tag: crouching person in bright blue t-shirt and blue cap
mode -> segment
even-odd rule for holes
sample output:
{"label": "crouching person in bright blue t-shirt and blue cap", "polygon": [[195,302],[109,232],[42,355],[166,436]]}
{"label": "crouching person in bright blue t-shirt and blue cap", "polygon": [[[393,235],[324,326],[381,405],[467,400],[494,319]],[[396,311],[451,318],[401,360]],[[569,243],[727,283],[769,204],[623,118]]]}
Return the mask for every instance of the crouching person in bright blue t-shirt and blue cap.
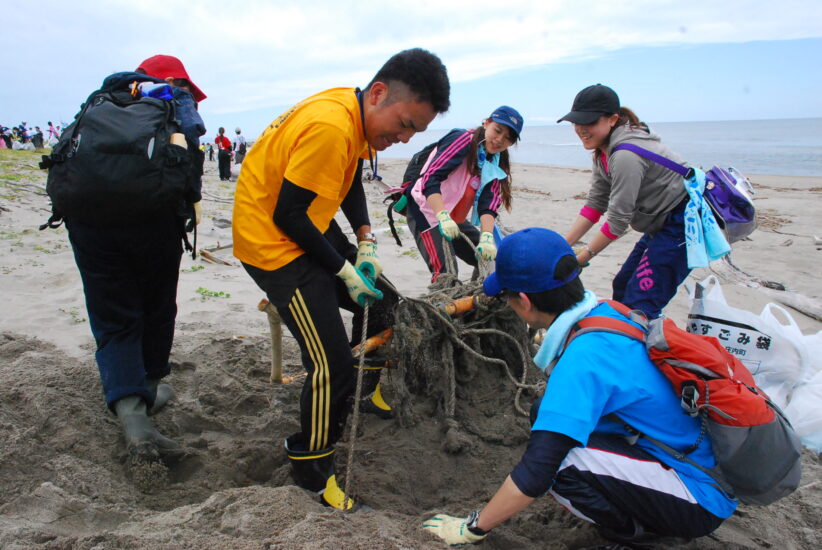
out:
{"label": "crouching person in bright blue t-shirt and blue cap", "polygon": [[[485,293],[504,299],[532,329],[547,329],[534,362],[543,370],[554,366],[531,407],[525,453],[493,498],[467,518],[438,514],[423,524],[448,544],[481,541],[546,492],[604,537],[627,545],[619,548],[702,537],[736,509],[707,473],[649,441],[688,453],[704,468],[716,466],[700,419],[682,413],[644,342],[598,331],[580,333],[563,350],[585,317],[640,327],[586,291],[580,271],[570,245],[549,229],[523,229],[500,244]],[[632,438],[613,415],[648,438]]]}

